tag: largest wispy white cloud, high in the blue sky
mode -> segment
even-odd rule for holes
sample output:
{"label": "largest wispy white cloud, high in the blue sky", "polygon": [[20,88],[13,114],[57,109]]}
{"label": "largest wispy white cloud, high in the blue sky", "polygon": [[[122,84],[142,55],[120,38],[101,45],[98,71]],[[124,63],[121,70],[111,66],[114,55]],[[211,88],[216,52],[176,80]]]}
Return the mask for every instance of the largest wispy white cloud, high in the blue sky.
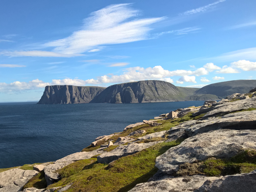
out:
{"label": "largest wispy white cloud, high in the blue sky", "polygon": [[130,5],[110,5],[92,12],[80,31],[75,31],[67,38],[46,43],[45,46],[55,47],[54,52],[62,54],[81,54],[99,51],[100,45],[146,40],[149,38],[148,32],[152,30],[150,25],[165,17],[133,19],[139,15],[139,11]]}

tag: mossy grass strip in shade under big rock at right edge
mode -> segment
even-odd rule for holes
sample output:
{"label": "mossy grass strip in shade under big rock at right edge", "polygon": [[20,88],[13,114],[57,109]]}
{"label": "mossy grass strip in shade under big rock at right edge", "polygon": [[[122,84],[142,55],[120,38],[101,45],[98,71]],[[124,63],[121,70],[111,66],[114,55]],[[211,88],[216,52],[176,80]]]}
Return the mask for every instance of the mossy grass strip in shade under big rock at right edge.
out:
{"label": "mossy grass strip in shade under big rock at right edge", "polygon": [[206,161],[180,165],[178,175],[205,174],[207,176],[225,176],[237,173],[249,173],[256,169],[256,150],[246,149],[231,159],[209,158]]}

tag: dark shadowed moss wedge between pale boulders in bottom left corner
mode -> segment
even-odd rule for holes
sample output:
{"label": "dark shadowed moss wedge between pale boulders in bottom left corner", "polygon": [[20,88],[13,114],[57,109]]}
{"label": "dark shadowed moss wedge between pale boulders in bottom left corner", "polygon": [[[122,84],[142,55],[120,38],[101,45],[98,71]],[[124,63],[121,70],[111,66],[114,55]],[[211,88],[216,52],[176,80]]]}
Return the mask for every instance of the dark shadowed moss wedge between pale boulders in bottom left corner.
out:
{"label": "dark shadowed moss wedge between pale boulders in bottom left corner", "polygon": [[22,190],[30,187],[35,187],[36,189],[45,189],[47,187],[45,173],[43,171],[40,171],[37,175],[33,176],[28,183],[23,186]]}

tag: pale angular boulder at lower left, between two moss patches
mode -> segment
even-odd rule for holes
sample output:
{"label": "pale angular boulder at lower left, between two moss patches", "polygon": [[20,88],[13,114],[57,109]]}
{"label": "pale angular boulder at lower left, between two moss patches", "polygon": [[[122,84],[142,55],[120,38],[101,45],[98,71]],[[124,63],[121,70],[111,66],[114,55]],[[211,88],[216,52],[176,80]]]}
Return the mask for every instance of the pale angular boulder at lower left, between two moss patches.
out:
{"label": "pale angular boulder at lower left, between two moss patches", "polygon": [[59,173],[57,170],[64,168],[65,166],[74,163],[74,161],[68,161],[64,163],[54,163],[45,166],[43,171],[45,172],[45,180],[47,185],[51,185],[54,182],[57,182],[60,179]]}

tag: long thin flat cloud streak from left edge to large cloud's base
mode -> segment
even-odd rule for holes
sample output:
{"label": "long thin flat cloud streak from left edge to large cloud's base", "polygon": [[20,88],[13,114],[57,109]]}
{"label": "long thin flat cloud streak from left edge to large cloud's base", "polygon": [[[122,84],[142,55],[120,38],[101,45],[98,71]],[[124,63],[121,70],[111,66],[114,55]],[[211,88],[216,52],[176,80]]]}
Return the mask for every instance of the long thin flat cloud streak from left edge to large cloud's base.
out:
{"label": "long thin flat cloud streak from left edge to large cloud's base", "polygon": [[57,52],[50,51],[3,51],[0,52],[0,55],[10,56],[10,57],[21,57],[21,56],[30,56],[30,57],[76,57],[84,56],[83,54],[62,54]]}

